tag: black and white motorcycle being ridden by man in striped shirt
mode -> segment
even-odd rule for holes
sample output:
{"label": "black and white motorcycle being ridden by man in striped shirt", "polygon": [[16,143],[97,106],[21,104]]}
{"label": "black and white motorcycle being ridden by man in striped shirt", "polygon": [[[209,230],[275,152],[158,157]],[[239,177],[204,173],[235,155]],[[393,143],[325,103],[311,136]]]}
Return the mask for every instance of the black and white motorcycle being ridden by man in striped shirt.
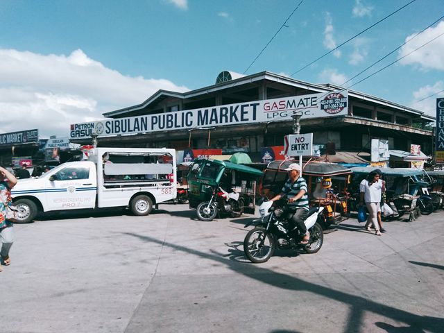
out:
{"label": "black and white motorcycle being ridden by man in striped shirt", "polygon": [[[309,231],[310,238],[307,244],[299,244],[304,234],[293,236],[289,230],[288,222],[284,219],[284,207],[273,207],[273,201],[264,201],[259,207],[260,219],[248,225],[257,226],[250,230],[244,239],[244,253],[254,263],[266,262],[273,255],[276,248],[296,249],[302,248],[306,253],[317,253],[321,249],[324,235],[321,221],[324,207],[311,207],[304,223]],[[268,214],[267,214],[268,213]]]}

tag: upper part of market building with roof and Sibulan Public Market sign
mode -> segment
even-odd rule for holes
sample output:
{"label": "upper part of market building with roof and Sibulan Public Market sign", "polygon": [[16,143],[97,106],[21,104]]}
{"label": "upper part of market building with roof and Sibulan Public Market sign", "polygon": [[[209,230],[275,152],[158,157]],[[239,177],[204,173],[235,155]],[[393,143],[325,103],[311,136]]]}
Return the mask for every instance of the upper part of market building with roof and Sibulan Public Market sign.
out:
{"label": "upper part of market building with roof and Sibulan Public Market sign", "polygon": [[[106,119],[71,125],[71,142],[99,146],[220,149],[261,160],[264,147],[283,146],[293,133],[314,133],[314,144],[345,162],[369,155],[371,139],[410,151],[432,153],[434,121],[421,110],[331,84],[316,85],[263,71],[241,76],[223,71],[214,85],[189,92],[159,90],[139,105],[103,114]],[[269,149],[268,153],[272,152]]]}

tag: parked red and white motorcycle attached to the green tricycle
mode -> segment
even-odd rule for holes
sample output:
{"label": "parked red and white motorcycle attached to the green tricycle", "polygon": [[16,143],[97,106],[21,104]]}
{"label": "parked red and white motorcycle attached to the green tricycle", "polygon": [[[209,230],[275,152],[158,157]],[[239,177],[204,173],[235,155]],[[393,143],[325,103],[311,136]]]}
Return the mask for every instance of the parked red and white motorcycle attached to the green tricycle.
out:
{"label": "parked red and white motorcycle attached to the green tricycle", "polygon": [[197,217],[201,221],[212,221],[217,214],[230,214],[231,217],[239,217],[244,214],[244,200],[239,193],[224,191],[221,187],[211,187],[212,196],[210,201],[200,203],[197,208]]}

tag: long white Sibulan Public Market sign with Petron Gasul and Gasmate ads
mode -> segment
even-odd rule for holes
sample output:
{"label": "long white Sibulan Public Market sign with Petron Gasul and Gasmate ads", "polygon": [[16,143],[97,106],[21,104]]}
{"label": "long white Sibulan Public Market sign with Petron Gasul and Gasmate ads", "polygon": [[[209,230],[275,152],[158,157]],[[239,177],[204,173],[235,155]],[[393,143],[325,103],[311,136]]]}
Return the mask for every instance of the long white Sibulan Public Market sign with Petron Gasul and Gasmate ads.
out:
{"label": "long white Sibulan Public Market sign with Petron Gasul and Gasmate ads", "polygon": [[282,99],[267,99],[178,112],[146,114],[137,117],[104,119],[71,124],[71,139],[91,135],[111,136],[183,130],[214,126],[291,120],[293,113],[301,118],[330,117],[348,114],[348,92],[309,94]]}

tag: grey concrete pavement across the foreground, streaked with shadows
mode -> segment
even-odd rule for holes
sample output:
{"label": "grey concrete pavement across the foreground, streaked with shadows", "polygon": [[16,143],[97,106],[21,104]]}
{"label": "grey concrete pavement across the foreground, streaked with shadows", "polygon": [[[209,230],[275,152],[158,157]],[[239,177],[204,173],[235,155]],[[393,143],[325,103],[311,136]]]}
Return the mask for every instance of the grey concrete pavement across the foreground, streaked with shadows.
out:
{"label": "grey concrete pavement across the foreground, streaked with shadows", "polygon": [[443,216],[382,237],[349,219],[264,264],[244,257],[248,216],[49,216],[15,225],[0,332],[443,332]]}

